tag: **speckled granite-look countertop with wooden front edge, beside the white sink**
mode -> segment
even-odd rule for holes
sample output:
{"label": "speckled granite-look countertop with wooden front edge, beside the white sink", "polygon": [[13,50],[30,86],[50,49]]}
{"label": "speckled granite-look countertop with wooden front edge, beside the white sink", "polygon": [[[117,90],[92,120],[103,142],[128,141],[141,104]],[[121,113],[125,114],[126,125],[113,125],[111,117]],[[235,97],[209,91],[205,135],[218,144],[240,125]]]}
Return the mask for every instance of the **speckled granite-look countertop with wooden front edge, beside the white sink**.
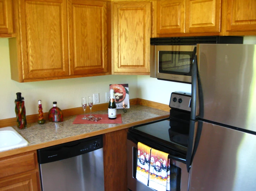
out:
{"label": "speckled granite-look countertop with wooden front edge, beside the white sink", "polygon": [[[92,112],[92,114],[107,113],[108,110]],[[76,118],[76,115],[73,115],[70,117],[64,117],[63,122],[59,123],[49,121],[46,121],[46,123],[42,125],[39,125],[37,122],[29,123],[27,125],[27,129],[22,130],[18,129],[16,126],[13,126],[14,129],[29,142],[29,144],[25,147],[2,151],[0,152],[0,158],[12,154],[91,137],[97,134],[104,134],[107,132],[128,128],[136,124],[148,122],[148,120],[154,121],[159,118],[169,116],[169,112],[143,105],[130,105],[130,109],[127,109],[126,113],[124,113],[123,110],[117,110],[117,114],[118,113],[121,113],[122,115],[122,123],[73,124],[73,121]]]}

